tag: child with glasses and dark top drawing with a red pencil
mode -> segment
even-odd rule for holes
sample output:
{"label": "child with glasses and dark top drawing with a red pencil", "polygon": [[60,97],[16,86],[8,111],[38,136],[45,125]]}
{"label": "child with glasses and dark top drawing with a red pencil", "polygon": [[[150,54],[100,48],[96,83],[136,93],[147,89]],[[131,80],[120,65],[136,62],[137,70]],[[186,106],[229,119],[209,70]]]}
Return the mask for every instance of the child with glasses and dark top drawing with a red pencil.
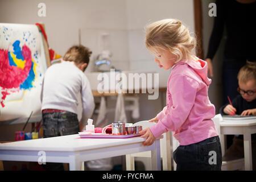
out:
{"label": "child with glasses and dark top drawing with a red pencil", "polygon": [[[240,93],[233,99],[232,105],[226,104],[220,108],[222,115],[256,115],[256,63],[247,61],[238,72],[238,88]],[[256,134],[251,135],[252,154],[253,154],[253,170],[256,168]],[[235,135],[233,144],[228,148],[224,157],[225,160],[233,160],[243,158],[243,135]]]}

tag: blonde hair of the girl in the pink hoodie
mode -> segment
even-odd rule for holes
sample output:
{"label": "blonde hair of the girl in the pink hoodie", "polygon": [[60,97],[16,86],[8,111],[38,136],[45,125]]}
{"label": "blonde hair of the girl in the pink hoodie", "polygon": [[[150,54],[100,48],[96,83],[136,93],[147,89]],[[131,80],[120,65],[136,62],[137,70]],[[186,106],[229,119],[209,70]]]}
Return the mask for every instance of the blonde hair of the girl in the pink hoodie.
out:
{"label": "blonde hair of the girl in the pink hoodie", "polygon": [[188,28],[180,20],[163,19],[146,26],[147,49],[161,48],[176,55],[175,63],[181,59],[191,59],[196,39],[189,34]]}

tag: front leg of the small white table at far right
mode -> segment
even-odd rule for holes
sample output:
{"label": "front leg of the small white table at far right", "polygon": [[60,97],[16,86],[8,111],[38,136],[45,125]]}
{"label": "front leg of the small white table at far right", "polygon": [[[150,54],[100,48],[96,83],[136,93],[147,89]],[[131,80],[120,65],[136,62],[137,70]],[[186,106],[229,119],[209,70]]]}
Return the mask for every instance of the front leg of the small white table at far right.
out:
{"label": "front leg of the small white table at far right", "polygon": [[251,155],[251,134],[250,132],[245,132],[243,134],[243,149],[245,151],[245,170],[253,170],[253,158]]}

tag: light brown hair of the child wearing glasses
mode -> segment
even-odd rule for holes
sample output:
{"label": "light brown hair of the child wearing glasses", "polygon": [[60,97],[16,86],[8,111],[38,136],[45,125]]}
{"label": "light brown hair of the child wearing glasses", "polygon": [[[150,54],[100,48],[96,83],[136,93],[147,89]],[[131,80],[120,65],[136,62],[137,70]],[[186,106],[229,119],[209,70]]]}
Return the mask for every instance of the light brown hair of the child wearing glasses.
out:
{"label": "light brown hair of the child wearing glasses", "polygon": [[238,81],[246,83],[249,80],[256,81],[256,63],[247,61],[246,65],[244,65],[237,75]]}

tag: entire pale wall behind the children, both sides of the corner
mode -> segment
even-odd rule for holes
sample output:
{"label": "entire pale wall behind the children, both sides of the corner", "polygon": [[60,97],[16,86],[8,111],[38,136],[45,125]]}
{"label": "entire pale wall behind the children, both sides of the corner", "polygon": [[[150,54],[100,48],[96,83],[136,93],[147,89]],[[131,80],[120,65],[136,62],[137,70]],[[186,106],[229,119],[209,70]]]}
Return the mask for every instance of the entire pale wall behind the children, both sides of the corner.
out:
{"label": "entire pale wall behind the children, both sides of the corner", "polygon": [[[46,3],[46,17],[38,16],[38,4]],[[100,53],[100,36],[109,34],[112,63],[117,69],[155,71],[159,85],[166,86],[169,73],[158,68],[144,46],[144,26],[164,18],[183,21],[193,32],[193,0],[1,0],[0,22],[46,26],[49,46],[60,55],[73,44],[81,43]],[[90,71],[92,64],[86,72]],[[163,102],[162,101],[163,98]],[[165,105],[165,94],[156,101],[141,97],[141,117],[154,117]]]}

